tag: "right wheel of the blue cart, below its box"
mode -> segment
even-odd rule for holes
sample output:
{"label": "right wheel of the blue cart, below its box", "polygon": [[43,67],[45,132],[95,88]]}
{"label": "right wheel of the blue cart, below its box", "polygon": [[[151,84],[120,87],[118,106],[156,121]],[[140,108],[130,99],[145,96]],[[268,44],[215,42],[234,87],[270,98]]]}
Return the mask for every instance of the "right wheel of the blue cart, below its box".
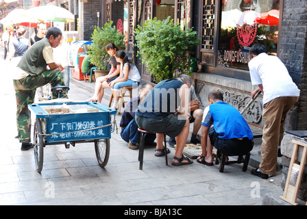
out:
{"label": "right wheel of the blue cart, below its box", "polygon": [[95,140],[95,152],[99,166],[106,166],[110,155],[110,139]]}

